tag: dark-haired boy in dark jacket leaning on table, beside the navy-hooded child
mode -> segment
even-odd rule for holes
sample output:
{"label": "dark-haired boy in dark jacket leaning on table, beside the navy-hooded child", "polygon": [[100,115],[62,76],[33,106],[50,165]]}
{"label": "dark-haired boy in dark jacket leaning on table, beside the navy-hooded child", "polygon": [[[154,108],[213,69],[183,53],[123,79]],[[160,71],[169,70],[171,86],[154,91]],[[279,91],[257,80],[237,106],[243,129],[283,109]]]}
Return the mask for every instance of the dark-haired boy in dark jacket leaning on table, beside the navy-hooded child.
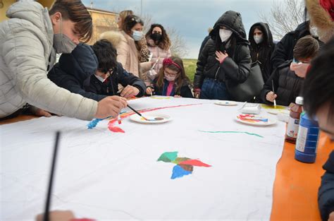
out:
{"label": "dark-haired boy in dark jacket leaning on table, beside the navy-hooded child", "polygon": [[125,71],[122,64],[117,62],[117,52],[108,40],[99,40],[92,49],[97,56],[99,66],[94,75],[85,80],[83,86],[87,92],[97,95],[117,95],[118,83],[124,89],[120,96],[128,98],[132,96],[142,97],[146,90],[146,85],[140,78]]}

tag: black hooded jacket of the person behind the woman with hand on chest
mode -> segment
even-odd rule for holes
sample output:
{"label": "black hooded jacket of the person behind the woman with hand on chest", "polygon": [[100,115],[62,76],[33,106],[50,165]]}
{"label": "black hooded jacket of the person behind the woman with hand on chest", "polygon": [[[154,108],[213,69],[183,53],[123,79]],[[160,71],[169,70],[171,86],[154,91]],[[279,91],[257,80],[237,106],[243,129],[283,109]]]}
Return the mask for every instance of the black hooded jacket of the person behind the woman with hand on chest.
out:
{"label": "black hooded jacket of the person behind the woman with hand on chest", "polygon": [[[254,30],[256,26],[260,26],[263,32],[264,40],[260,44],[256,44],[254,41]],[[264,77],[264,82],[268,80],[271,76],[271,54],[275,45],[273,44],[273,35],[271,35],[271,30],[267,23],[255,23],[249,29],[248,39],[250,42],[250,52],[252,56],[252,63],[259,61],[262,76]]]}

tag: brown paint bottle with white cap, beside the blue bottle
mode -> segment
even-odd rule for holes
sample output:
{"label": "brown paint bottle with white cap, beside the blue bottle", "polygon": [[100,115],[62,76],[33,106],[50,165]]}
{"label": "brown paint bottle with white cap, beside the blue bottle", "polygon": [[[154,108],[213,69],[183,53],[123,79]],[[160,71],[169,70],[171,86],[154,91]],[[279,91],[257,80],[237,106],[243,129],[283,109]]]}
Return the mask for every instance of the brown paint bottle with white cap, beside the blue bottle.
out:
{"label": "brown paint bottle with white cap, beside the blue bottle", "polygon": [[290,108],[289,121],[287,121],[287,131],[285,134],[285,141],[287,142],[296,143],[302,106],[303,97],[296,97],[296,103]]}

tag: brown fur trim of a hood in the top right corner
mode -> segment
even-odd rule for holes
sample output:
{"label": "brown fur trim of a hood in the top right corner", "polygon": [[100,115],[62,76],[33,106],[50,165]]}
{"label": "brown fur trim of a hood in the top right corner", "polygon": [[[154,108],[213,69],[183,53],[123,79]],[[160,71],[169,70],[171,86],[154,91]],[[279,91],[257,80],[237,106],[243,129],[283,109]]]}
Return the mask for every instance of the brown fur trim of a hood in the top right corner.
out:
{"label": "brown fur trim of a hood in the top right corner", "polygon": [[319,0],[305,0],[311,25],[318,29],[319,40],[328,42],[334,36],[334,20],[321,6]]}

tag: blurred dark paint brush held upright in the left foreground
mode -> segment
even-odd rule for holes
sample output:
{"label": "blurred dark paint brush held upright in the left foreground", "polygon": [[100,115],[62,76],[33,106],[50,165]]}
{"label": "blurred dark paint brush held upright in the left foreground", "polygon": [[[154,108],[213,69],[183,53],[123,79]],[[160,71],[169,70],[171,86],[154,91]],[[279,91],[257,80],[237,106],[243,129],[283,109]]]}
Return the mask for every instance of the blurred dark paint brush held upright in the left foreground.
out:
{"label": "blurred dark paint brush held upright in the left foreground", "polygon": [[50,208],[50,201],[51,201],[51,192],[52,192],[52,183],[54,181],[54,170],[56,169],[56,159],[57,159],[57,152],[58,152],[58,143],[59,137],[61,136],[61,132],[56,132],[56,141],[54,144],[54,155],[52,157],[52,164],[51,164],[51,173],[49,178],[49,186],[47,191],[47,202],[45,203],[44,215],[43,220],[49,221],[49,208]]}

